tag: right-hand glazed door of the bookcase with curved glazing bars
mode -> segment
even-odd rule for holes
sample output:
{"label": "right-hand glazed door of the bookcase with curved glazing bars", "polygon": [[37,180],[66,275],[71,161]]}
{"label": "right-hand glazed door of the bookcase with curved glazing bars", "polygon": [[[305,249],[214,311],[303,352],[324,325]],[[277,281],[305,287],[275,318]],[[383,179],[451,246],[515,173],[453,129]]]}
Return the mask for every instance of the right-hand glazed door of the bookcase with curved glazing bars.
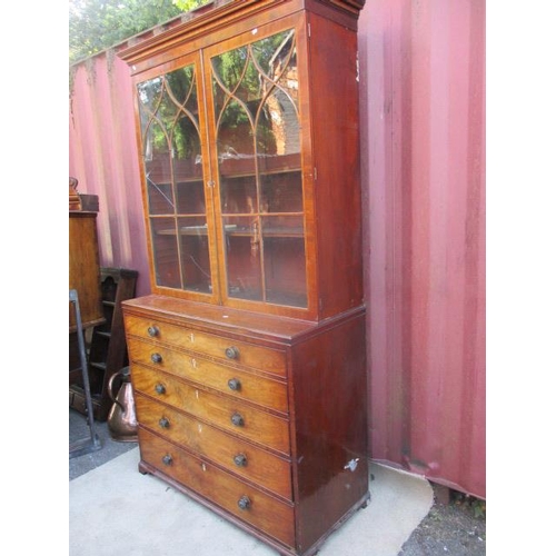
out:
{"label": "right-hand glazed door of the bookcase with curved glazing bars", "polygon": [[291,20],[205,52],[226,305],[308,307],[298,34]]}

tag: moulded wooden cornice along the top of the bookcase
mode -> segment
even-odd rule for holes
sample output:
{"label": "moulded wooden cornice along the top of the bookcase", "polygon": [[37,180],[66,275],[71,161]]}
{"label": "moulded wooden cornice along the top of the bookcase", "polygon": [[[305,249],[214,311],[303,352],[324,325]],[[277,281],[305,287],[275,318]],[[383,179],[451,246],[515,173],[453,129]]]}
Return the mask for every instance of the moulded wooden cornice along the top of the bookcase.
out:
{"label": "moulded wooden cornice along the top of the bookcase", "polygon": [[212,42],[219,30],[229,28],[238,20],[266,12],[281,17],[309,10],[357,30],[357,19],[365,2],[366,0],[214,0],[130,38],[118,57],[136,73],[150,67],[145,67],[141,62],[152,60],[155,53],[171,50],[185,41],[202,42],[203,37],[211,37]]}

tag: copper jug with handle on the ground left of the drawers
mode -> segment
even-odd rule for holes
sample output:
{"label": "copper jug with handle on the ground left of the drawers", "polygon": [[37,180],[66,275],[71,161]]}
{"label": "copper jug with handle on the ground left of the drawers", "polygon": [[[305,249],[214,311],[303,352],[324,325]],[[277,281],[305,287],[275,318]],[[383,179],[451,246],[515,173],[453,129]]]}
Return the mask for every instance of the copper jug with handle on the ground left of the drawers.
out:
{"label": "copper jug with handle on the ground left of the drawers", "polygon": [[[121,379],[121,386],[115,397],[113,383],[117,378]],[[137,443],[137,417],[129,367],[123,367],[110,377],[108,395],[113,401],[107,419],[110,436],[120,443]]]}

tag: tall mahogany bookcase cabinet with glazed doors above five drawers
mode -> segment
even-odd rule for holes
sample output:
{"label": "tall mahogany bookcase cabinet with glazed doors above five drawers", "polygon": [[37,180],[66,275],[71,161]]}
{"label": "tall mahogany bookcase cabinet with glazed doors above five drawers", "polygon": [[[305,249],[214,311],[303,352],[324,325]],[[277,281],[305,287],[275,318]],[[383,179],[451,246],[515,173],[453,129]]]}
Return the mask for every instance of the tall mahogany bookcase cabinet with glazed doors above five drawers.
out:
{"label": "tall mahogany bookcase cabinet with glazed doors above five drawers", "polygon": [[139,469],[284,555],[369,498],[364,3],[210,2],[119,54],[152,290],[122,304]]}

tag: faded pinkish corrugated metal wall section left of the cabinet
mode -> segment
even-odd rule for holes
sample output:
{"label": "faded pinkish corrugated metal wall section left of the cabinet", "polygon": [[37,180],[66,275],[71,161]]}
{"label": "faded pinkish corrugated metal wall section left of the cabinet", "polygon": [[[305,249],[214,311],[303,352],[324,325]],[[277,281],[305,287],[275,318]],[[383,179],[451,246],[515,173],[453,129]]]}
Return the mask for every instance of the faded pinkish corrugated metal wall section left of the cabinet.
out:
{"label": "faded pinkish corrugated metal wall section left of the cabinet", "polygon": [[129,67],[105,52],[75,67],[69,115],[69,175],[99,196],[100,264],[139,272],[150,292]]}

